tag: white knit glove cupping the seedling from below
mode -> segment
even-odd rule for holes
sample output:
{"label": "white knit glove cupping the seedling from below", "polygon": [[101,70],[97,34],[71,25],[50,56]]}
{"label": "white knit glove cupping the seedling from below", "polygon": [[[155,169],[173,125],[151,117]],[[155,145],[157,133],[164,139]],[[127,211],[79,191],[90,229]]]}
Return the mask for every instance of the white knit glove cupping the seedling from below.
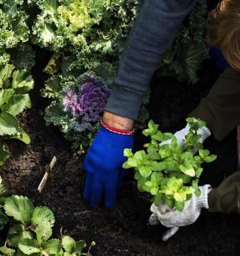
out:
{"label": "white knit glove cupping the seedling from below", "polygon": [[155,204],[151,205],[150,211],[153,212],[150,216],[148,223],[150,225],[156,225],[159,221],[170,229],[163,234],[163,241],[167,241],[172,237],[179,227],[187,226],[196,221],[201,213],[201,209],[208,209],[209,205],[207,202],[208,189],[211,188],[210,185],[200,186],[201,195],[196,197],[193,193],[190,200],[185,202],[184,209],[179,212],[177,209],[170,209],[166,205]]}

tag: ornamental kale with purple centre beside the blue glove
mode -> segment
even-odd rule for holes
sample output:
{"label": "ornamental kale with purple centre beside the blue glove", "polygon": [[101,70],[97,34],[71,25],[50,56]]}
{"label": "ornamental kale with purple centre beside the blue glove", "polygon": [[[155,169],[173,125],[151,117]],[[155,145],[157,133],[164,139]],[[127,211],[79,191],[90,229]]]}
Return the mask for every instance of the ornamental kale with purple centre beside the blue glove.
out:
{"label": "ornamental kale with purple centre beside the blue glove", "polygon": [[58,125],[74,149],[88,148],[110,96],[108,85],[93,73],[79,77],[52,76],[42,90],[55,99],[45,109],[47,124]]}

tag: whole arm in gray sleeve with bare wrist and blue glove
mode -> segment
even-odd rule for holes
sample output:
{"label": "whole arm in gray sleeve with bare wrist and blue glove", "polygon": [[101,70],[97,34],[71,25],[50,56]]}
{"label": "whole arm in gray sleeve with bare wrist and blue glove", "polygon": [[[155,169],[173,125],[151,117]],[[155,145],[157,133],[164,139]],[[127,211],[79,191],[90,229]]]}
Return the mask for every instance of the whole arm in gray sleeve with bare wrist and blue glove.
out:
{"label": "whole arm in gray sleeve with bare wrist and blue glove", "polygon": [[[133,120],[138,118],[138,110],[150,79],[195,2],[145,0],[122,54],[104,112],[104,124],[113,129],[132,130]],[[84,160],[84,170],[87,172],[84,198],[93,207],[99,205],[103,193],[106,207],[113,207],[116,188],[124,173],[124,148],[132,148],[132,141],[133,136],[106,132],[104,128],[93,140]]]}

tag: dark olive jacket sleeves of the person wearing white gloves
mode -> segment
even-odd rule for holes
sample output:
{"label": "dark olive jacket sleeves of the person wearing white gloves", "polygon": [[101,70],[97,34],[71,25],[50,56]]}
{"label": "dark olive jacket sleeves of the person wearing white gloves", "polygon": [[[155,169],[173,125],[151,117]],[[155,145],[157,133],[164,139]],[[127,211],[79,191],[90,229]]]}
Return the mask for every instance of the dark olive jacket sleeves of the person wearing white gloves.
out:
{"label": "dark olive jacket sleeves of the person wearing white gloves", "polygon": [[[227,68],[189,116],[204,120],[214,137],[223,140],[240,124],[240,72]],[[239,171],[209,193],[209,212],[240,214]]]}

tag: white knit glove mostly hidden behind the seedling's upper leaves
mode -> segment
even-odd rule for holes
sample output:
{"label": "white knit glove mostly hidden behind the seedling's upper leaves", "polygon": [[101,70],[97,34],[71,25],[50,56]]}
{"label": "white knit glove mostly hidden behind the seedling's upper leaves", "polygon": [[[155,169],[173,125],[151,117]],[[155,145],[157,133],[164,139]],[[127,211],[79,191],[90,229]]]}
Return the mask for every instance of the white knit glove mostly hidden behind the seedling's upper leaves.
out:
{"label": "white knit glove mostly hidden behind the seedling's upper leaves", "polygon": [[[195,119],[195,122],[198,121]],[[186,127],[184,127],[182,130],[175,132],[174,136],[177,138],[177,142],[179,144],[184,143],[185,136],[189,133],[190,125],[187,124]],[[204,143],[205,139],[207,139],[211,135],[211,131],[206,127],[202,127],[198,130],[198,134],[202,135],[202,138],[200,138],[198,141],[200,143]],[[172,139],[165,140],[160,143],[160,145],[164,144],[170,144]]]}

